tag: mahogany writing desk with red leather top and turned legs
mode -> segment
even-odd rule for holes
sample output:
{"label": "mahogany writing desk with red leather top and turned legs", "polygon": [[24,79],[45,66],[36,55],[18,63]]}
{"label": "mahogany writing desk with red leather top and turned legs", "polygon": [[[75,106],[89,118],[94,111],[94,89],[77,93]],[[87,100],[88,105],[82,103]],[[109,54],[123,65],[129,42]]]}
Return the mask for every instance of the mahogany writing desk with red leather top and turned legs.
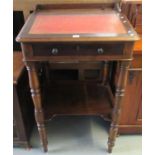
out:
{"label": "mahogany writing desk with red leather top and turned legs", "polygon": [[[117,8],[117,7],[116,7]],[[29,74],[29,84],[35,107],[35,118],[40,139],[46,152],[47,136],[44,121],[47,118],[46,110],[51,109],[52,114],[100,114],[104,115],[107,105],[113,105],[111,128],[108,139],[108,152],[112,152],[118,131],[118,123],[122,98],[125,92],[127,73],[132,60],[132,48],[137,33],[130,25],[127,18],[114,9],[104,9],[103,5],[52,5],[38,6],[30,15],[26,24],[17,36],[21,42],[23,60]],[[54,101],[54,91],[49,91],[51,96],[49,107],[47,100],[42,100],[40,82],[38,79],[37,65],[40,62],[105,62],[103,68],[103,82],[92,88],[85,86],[86,98],[72,98],[66,93],[66,98],[73,103]],[[107,90],[106,64],[109,61],[119,62],[119,73],[115,95],[111,100],[111,90]],[[68,88],[72,88],[68,85]],[[74,87],[73,87],[74,89]],[[96,93],[92,93],[96,89]],[[75,91],[75,90],[72,90]],[[62,92],[61,92],[62,93]],[[97,94],[98,93],[98,94]],[[96,101],[95,101],[96,99]],[[114,101],[114,103],[112,103]],[[53,102],[53,103],[52,103]],[[61,110],[59,107],[62,106]],[[44,109],[44,107],[46,107]],[[43,110],[45,113],[43,113]]]}

